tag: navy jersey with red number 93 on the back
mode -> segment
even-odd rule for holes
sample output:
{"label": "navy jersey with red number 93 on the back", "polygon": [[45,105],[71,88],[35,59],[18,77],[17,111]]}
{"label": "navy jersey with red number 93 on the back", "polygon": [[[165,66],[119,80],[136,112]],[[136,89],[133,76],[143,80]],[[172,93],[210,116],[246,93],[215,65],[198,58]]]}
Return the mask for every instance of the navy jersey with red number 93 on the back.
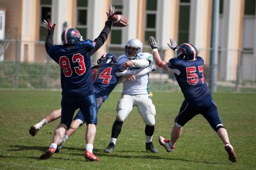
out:
{"label": "navy jersey with red number 93 on the back", "polygon": [[62,95],[84,97],[94,94],[91,81],[91,62],[89,51],[95,42],[85,40],[68,49],[63,45],[49,48],[48,54],[60,65]]}

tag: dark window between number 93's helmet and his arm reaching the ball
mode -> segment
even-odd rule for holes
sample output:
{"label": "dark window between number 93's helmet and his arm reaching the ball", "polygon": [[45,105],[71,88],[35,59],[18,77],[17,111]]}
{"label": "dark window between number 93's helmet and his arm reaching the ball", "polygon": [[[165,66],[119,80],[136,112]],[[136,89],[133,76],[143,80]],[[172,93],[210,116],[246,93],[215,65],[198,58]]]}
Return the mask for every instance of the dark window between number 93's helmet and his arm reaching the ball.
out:
{"label": "dark window between number 93's helmet and his arm reaching the ball", "polygon": [[83,36],[83,39],[87,37],[87,8],[87,0],[77,0],[77,30]]}

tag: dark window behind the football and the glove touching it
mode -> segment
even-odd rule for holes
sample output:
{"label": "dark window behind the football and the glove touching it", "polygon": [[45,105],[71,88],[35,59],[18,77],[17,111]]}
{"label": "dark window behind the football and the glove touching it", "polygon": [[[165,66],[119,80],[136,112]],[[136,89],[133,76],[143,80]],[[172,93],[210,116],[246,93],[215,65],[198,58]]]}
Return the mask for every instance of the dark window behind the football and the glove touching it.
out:
{"label": "dark window behind the football and the glove touching it", "polygon": [[[123,13],[123,0],[113,0],[112,5],[117,9],[117,14]],[[112,26],[111,29],[111,44],[122,44],[122,28],[119,26]]]}

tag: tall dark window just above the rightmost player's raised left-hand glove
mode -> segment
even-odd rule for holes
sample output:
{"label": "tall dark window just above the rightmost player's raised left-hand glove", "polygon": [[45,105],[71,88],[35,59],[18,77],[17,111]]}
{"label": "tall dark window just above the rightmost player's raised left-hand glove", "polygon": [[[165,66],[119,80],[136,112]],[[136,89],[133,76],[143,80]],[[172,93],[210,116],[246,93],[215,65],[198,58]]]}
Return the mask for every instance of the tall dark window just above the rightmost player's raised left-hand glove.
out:
{"label": "tall dark window just above the rightmost player's raised left-hand glove", "polygon": [[146,25],[145,25],[145,44],[148,44],[149,36],[156,36],[156,13],[157,0],[147,0],[146,6]]}

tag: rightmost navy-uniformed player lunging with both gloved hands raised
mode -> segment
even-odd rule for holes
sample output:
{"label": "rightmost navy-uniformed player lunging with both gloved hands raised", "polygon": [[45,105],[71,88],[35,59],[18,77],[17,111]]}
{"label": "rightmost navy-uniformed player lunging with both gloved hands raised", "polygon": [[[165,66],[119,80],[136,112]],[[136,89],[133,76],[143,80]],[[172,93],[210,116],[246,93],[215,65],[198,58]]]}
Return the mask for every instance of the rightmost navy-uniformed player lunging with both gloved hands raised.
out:
{"label": "rightmost navy-uniformed player lunging with both gloved hands raised", "polygon": [[204,61],[200,56],[197,56],[196,47],[189,43],[177,46],[174,39],[170,39],[170,44],[168,45],[171,49],[175,50],[176,58],[166,63],[160,58],[157,50],[158,42],[155,41],[154,37],[149,37],[149,43],[153,50],[156,65],[174,73],[185,98],[175,119],[171,138],[165,139],[159,136],[160,145],[164,146],[167,152],[172,152],[176,141],[182,133],[183,126],[193,117],[201,114],[223,141],[229,160],[236,162],[237,156],[230,145],[227,130],[221,122],[218,107],[204,81]]}

